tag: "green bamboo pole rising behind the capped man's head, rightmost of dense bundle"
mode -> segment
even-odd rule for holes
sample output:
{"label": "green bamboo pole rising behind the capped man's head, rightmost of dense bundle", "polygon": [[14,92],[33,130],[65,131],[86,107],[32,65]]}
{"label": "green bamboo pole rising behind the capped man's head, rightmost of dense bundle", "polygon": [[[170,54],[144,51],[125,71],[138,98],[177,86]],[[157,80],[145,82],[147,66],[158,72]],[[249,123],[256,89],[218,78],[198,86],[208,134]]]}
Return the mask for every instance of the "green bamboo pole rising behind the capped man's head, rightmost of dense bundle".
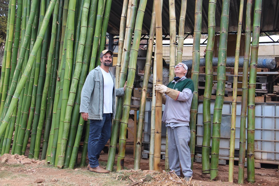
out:
{"label": "green bamboo pole rising behind the capped man's head, rightmost of dense bundle", "polygon": [[[104,19],[103,19],[101,35],[100,35],[100,45],[99,45],[98,56],[100,56],[101,52],[105,49],[105,45],[106,45],[108,19],[109,19],[109,14],[110,14],[110,9],[111,9],[111,2],[112,2],[112,0],[106,0],[106,6],[105,6],[106,9],[104,11]],[[100,58],[98,58],[97,65],[101,65]]]}

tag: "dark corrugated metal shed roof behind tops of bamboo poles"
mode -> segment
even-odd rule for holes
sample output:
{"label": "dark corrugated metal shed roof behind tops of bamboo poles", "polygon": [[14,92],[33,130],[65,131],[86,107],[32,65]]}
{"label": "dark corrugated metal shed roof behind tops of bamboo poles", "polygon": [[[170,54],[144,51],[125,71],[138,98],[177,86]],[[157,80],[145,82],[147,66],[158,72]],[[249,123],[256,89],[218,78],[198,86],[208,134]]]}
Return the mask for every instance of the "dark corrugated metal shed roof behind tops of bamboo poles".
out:
{"label": "dark corrugated metal shed roof behind tops of bamboo poles", "polygon": [[[139,0],[138,0],[139,2]],[[202,33],[207,33],[207,15],[208,15],[208,2],[209,0],[203,0],[202,3]],[[254,10],[254,2],[253,1],[253,9]],[[238,15],[239,15],[239,4],[240,0],[231,0],[230,1],[230,12],[229,12],[229,32],[237,31],[238,24]],[[244,1],[244,12],[243,12],[243,26],[242,32],[245,32],[245,15],[246,15],[246,4],[247,0]],[[121,19],[123,0],[113,0],[111,14],[109,17],[108,24],[108,33],[112,33],[114,35],[119,35],[119,26]],[[142,27],[142,34],[148,34],[150,28],[150,20],[152,14],[152,6],[153,1],[148,0],[144,21]],[[180,8],[181,8],[181,0],[175,0],[175,14],[176,14],[176,29],[178,33],[179,28],[179,16],[180,16]],[[194,11],[195,11],[195,0],[187,1],[187,11],[186,11],[186,20],[185,20],[185,29],[184,33],[193,33],[194,31]],[[220,30],[220,17],[222,12],[222,0],[217,0],[216,5],[216,32]],[[261,30],[265,32],[279,32],[279,0],[263,0],[262,1],[262,15],[261,15]],[[252,14],[253,19],[253,14]],[[252,21],[253,23],[253,21]],[[170,23],[169,23],[169,1],[163,1],[163,9],[162,9],[162,28],[163,34],[168,34],[170,31]]]}

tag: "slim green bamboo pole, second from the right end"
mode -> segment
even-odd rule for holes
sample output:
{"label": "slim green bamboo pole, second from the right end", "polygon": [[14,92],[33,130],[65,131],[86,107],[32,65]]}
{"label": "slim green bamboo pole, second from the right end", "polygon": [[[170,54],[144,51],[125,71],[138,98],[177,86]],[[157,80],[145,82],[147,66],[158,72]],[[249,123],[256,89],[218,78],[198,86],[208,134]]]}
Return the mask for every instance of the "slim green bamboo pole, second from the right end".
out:
{"label": "slim green bamboo pole, second from the right end", "polygon": [[246,31],[245,31],[245,52],[243,61],[242,76],[242,96],[241,96],[241,116],[240,116],[240,139],[239,139],[239,159],[238,159],[238,184],[244,184],[244,165],[246,152],[246,113],[248,99],[248,64],[250,60],[251,48],[251,11],[252,0],[246,5]]}

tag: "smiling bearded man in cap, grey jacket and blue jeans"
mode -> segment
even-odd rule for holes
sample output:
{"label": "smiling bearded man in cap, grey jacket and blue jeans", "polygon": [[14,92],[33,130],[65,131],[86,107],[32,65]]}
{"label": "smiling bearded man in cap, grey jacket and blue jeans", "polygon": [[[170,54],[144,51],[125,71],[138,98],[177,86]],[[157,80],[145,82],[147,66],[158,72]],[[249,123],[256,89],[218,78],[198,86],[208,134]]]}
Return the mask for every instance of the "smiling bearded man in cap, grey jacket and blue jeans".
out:
{"label": "smiling bearded man in cap, grey jacket and blue jeans", "polygon": [[100,60],[101,66],[91,70],[86,77],[81,92],[80,113],[85,121],[90,119],[87,168],[97,173],[108,173],[99,165],[98,159],[111,135],[116,96],[124,95],[126,83],[123,88],[115,88],[115,78],[109,71],[113,60],[112,51],[102,51]]}

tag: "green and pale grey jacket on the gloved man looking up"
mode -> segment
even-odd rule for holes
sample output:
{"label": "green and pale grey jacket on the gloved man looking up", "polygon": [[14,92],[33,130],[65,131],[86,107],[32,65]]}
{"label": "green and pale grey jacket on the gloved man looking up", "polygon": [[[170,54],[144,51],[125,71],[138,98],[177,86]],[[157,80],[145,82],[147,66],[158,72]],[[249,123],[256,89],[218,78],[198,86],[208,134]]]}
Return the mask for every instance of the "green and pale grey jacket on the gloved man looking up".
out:
{"label": "green and pale grey jacket on the gloved man looking up", "polygon": [[167,87],[180,92],[176,100],[166,95],[166,106],[162,116],[162,122],[184,123],[189,125],[190,108],[194,91],[192,79],[182,77],[177,82],[170,82]]}

